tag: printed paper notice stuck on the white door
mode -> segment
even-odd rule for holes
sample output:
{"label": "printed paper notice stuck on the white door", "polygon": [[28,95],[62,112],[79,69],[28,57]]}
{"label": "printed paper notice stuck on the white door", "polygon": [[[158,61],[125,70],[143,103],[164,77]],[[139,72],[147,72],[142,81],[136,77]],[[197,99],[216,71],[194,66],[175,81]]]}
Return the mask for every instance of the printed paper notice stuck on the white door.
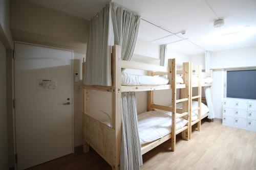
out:
{"label": "printed paper notice stuck on the white door", "polygon": [[54,79],[36,79],[36,91],[49,91],[57,88],[57,81]]}

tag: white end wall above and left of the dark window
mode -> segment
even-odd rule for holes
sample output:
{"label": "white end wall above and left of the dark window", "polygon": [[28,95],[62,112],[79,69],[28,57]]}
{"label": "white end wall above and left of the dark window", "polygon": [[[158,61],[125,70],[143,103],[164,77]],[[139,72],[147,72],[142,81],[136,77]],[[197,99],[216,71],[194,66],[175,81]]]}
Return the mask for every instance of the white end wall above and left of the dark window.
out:
{"label": "white end wall above and left of the dark window", "polygon": [[210,68],[214,69],[212,84],[212,102],[217,118],[222,118],[222,101],[224,96],[223,68],[241,68],[256,66],[256,46],[212,52]]}

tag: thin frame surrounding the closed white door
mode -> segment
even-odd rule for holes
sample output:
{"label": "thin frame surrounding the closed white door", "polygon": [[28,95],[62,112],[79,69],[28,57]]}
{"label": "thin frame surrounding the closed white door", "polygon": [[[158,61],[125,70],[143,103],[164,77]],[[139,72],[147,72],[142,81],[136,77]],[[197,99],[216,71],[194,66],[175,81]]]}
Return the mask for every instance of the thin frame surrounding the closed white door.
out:
{"label": "thin frame surrounding the closed white door", "polygon": [[[29,42],[22,42],[22,41],[13,41],[13,53],[12,53],[12,101],[15,99],[15,43],[19,44],[26,44],[26,45],[34,45],[34,46],[40,46],[40,47],[47,47],[47,48],[54,48],[57,50],[65,50],[70,51],[72,54],[71,58],[71,67],[72,67],[72,152],[75,153],[74,149],[74,51],[66,48],[60,48],[60,47],[54,47],[54,46],[48,46],[48,45],[41,45],[41,44],[35,44],[35,43],[29,43]],[[17,162],[16,162],[16,125],[15,125],[15,103],[13,102],[13,112],[12,112],[12,122],[13,122],[13,154],[14,154],[14,167],[15,170],[17,169]]]}

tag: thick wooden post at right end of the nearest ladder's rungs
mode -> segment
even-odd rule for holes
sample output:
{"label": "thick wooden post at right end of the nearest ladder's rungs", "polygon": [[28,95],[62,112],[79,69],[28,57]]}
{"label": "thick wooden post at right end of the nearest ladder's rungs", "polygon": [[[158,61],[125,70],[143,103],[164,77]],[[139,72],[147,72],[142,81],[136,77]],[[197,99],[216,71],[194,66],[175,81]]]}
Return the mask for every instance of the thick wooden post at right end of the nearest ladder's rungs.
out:
{"label": "thick wooden post at right end of the nearest ladder's rungs", "polygon": [[184,116],[185,119],[188,120],[187,123],[187,129],[185,131],[182,131],[182,138],[184,140],[188,140],[189,136],[190,136],[190,123],[191,123],[191,96],[190,96],[190,88],[191,88],[191,63],[190,62],[186,62],[183,63],[183,80],[184,80],[184,84],[186,86],[186,88],[181,89],[182,91],[182,96],[181,99],[187,98],[187,101],[182,102],[182,113],[187,112],[187,116]]}

